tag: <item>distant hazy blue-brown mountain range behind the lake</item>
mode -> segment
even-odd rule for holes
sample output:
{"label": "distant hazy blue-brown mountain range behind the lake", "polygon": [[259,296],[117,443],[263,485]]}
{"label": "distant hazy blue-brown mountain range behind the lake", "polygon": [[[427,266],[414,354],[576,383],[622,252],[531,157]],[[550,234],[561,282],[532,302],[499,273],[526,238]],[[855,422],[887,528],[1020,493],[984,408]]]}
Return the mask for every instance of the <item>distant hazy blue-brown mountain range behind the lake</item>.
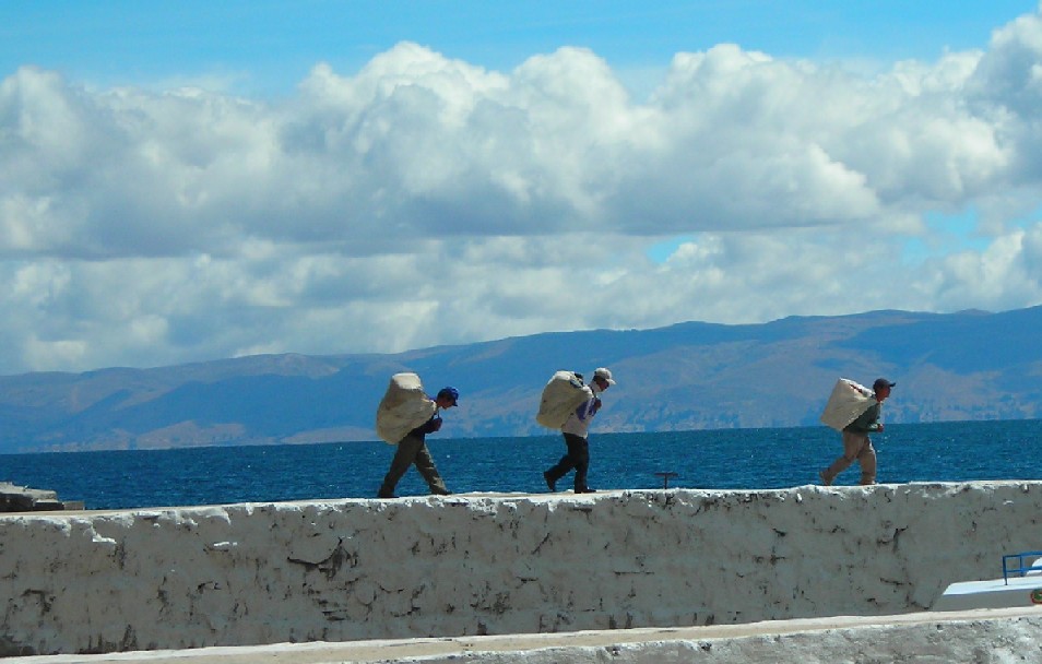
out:
{"label": "distant hazy blue-brown mountain range behind the lake", "polygon": [[898,386],[889,423],[1042,416],[1042,307],[547,333],[389,355],[260,355],[0,377],[0,452],[376,440],[391,375],[459,388],[442,436],[529,436],[555,370],[612,369],[594,430],[821,426],[836,380]]}

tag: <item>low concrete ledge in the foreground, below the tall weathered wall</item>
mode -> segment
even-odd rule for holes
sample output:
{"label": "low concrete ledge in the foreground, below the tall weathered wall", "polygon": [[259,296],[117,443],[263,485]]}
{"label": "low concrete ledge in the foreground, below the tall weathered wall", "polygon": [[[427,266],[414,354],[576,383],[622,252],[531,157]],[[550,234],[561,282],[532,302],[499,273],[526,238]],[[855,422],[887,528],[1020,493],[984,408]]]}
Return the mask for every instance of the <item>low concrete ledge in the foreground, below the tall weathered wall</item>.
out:
{"label": "low concrete ledge in the foreground, below the tall weathered wall", "polygon": [[[773,620],[555,635],[279,643],[17,657],[21,664],[836,664],[1042,661],[1042,608]],[[986,652],[986,659],[982,659]]]}

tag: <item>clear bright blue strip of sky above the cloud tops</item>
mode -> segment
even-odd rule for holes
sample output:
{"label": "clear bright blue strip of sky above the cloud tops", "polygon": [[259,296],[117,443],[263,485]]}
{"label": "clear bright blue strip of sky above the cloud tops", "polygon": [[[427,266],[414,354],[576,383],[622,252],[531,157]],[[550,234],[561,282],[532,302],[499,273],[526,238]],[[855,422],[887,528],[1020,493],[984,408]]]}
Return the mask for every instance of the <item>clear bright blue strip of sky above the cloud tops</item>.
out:
{"label": "clear bright blue strip of sky above the cloud tops", "polygon": [[937,58],[986,46],[1027,0],[425,2],[256,0],[0,3],[0,71],[33,63],[102,85],[220,76],[287,94],[316,62],[350,72],[401,40],[508,71],[534,54],[588,47],[623,70],[664,70],[723,42],[774,57]]}

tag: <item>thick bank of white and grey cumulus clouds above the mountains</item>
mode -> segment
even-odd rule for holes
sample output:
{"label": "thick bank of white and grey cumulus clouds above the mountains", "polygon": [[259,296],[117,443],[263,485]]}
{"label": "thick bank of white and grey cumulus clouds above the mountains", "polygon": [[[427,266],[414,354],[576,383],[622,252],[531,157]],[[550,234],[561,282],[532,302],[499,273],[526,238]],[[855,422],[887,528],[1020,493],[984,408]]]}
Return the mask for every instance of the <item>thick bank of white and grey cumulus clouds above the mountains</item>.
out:
{"label": "thick bank of white and grey cumulus clouds above the mountains", "polygon": [[[403,43],[292,98],[0,82],[0,371],[1042,303],[1042,17],[866,76]],[[937,245],[976,214],[974,244]],[[667,242],[667,257],[649,252]],[[978,247],[978,248],[974,248]]]}

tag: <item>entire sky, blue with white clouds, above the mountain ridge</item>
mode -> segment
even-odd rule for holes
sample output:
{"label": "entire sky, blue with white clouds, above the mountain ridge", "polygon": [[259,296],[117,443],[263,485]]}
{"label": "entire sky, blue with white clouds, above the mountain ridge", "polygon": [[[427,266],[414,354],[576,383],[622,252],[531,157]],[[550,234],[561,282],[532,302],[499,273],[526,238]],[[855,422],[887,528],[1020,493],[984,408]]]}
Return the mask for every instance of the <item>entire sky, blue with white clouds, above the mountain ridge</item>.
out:
{"label": "entire sky, blue with white clouds, above the mountain ridge", "polygon": [[1042,304],[1035,2],[2,2],[0,374]]}

